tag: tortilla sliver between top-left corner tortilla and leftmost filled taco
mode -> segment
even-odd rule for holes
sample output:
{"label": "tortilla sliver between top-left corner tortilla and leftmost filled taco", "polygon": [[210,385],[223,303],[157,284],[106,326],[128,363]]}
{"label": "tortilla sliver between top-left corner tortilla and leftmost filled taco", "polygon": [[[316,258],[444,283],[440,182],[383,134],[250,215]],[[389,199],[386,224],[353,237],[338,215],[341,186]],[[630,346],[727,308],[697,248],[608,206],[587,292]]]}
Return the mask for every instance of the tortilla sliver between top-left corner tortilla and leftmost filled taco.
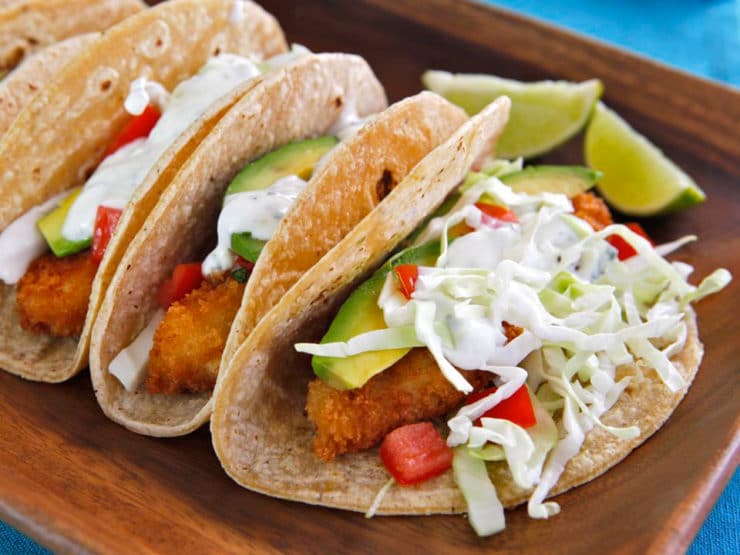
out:
{"label": "tortilla sliver between top-left corner tortilla and leftmost filled taco", "polygon": [[98,33],[87,33],[47,46],[29,56],[3,79],[0,82],[0,136],[46,82],[99,37]]}

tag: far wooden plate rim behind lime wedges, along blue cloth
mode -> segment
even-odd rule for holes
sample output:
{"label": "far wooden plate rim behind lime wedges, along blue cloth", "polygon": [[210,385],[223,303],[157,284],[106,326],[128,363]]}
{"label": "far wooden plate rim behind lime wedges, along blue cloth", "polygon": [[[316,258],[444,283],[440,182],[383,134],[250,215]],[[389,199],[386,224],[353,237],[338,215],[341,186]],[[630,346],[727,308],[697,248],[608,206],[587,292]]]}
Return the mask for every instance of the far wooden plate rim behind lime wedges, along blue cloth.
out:
{"label": "far wooden plate rim behind lime wedges, along blue cloth", "polygon": [[[617,108],[629,106],[655,128],[672,131],[665,133],[671,146],[732,173],[740,171],[740,92],[729,86],[489,4],[426,0],[420,10],[415,0],[363,2],[541,68],[553,78],[599,77],[607,102]],[[672,94],[661,94],[665,90]],[[671,118],[669,113],[683,117]],[[649,134],[650,129],[643,131]]]}

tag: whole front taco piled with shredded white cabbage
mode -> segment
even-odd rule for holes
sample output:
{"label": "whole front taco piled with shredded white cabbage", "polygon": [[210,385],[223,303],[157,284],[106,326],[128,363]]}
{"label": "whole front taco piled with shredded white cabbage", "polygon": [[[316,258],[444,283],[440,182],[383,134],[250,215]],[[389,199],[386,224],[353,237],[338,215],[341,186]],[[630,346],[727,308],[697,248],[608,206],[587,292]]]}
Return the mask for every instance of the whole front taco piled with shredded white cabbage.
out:
{"label": "whole front taco piled with shredded white cabbage", "polygon": [[597,172],[474,165],[463,145],[490,110],[298,280],[219,377],[213,444],[244,487],[368,514],[467,511],[488,535],[504,507],[555,515],[546,498],[618,463],[685,395],[702,356],[689,303],[729,273],[690,285],[664,257],[693,238],[655,247],[614,223],[588,191]]}

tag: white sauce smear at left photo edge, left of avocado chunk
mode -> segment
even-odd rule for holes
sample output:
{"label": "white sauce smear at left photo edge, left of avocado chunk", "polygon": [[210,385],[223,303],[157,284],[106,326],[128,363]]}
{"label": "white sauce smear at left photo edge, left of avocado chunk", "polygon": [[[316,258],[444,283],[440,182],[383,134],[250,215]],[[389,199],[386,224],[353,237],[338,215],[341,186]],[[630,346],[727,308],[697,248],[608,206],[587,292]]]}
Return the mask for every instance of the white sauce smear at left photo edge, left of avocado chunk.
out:
{"label": "white sauce smear at left photo edge, left of avocado chunk", "polygon": [[36,222],[59,206],[69,191],[60,193],[43,204],[34,206],[0,233],[0,280],[17,283],[31,262],[49,248]]}

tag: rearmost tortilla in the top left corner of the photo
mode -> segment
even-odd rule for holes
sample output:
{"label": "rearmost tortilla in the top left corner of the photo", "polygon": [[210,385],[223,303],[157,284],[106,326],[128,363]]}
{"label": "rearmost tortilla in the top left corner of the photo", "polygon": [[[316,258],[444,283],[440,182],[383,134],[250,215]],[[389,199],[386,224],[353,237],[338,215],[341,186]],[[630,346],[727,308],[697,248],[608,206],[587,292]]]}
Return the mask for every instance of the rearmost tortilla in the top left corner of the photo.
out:
{"label": "rearmost tortilla in the top left corner of the photo", "polygon": [[104,31],[146,8],[141,0],[0,2],[0,71],[66,38]]}

